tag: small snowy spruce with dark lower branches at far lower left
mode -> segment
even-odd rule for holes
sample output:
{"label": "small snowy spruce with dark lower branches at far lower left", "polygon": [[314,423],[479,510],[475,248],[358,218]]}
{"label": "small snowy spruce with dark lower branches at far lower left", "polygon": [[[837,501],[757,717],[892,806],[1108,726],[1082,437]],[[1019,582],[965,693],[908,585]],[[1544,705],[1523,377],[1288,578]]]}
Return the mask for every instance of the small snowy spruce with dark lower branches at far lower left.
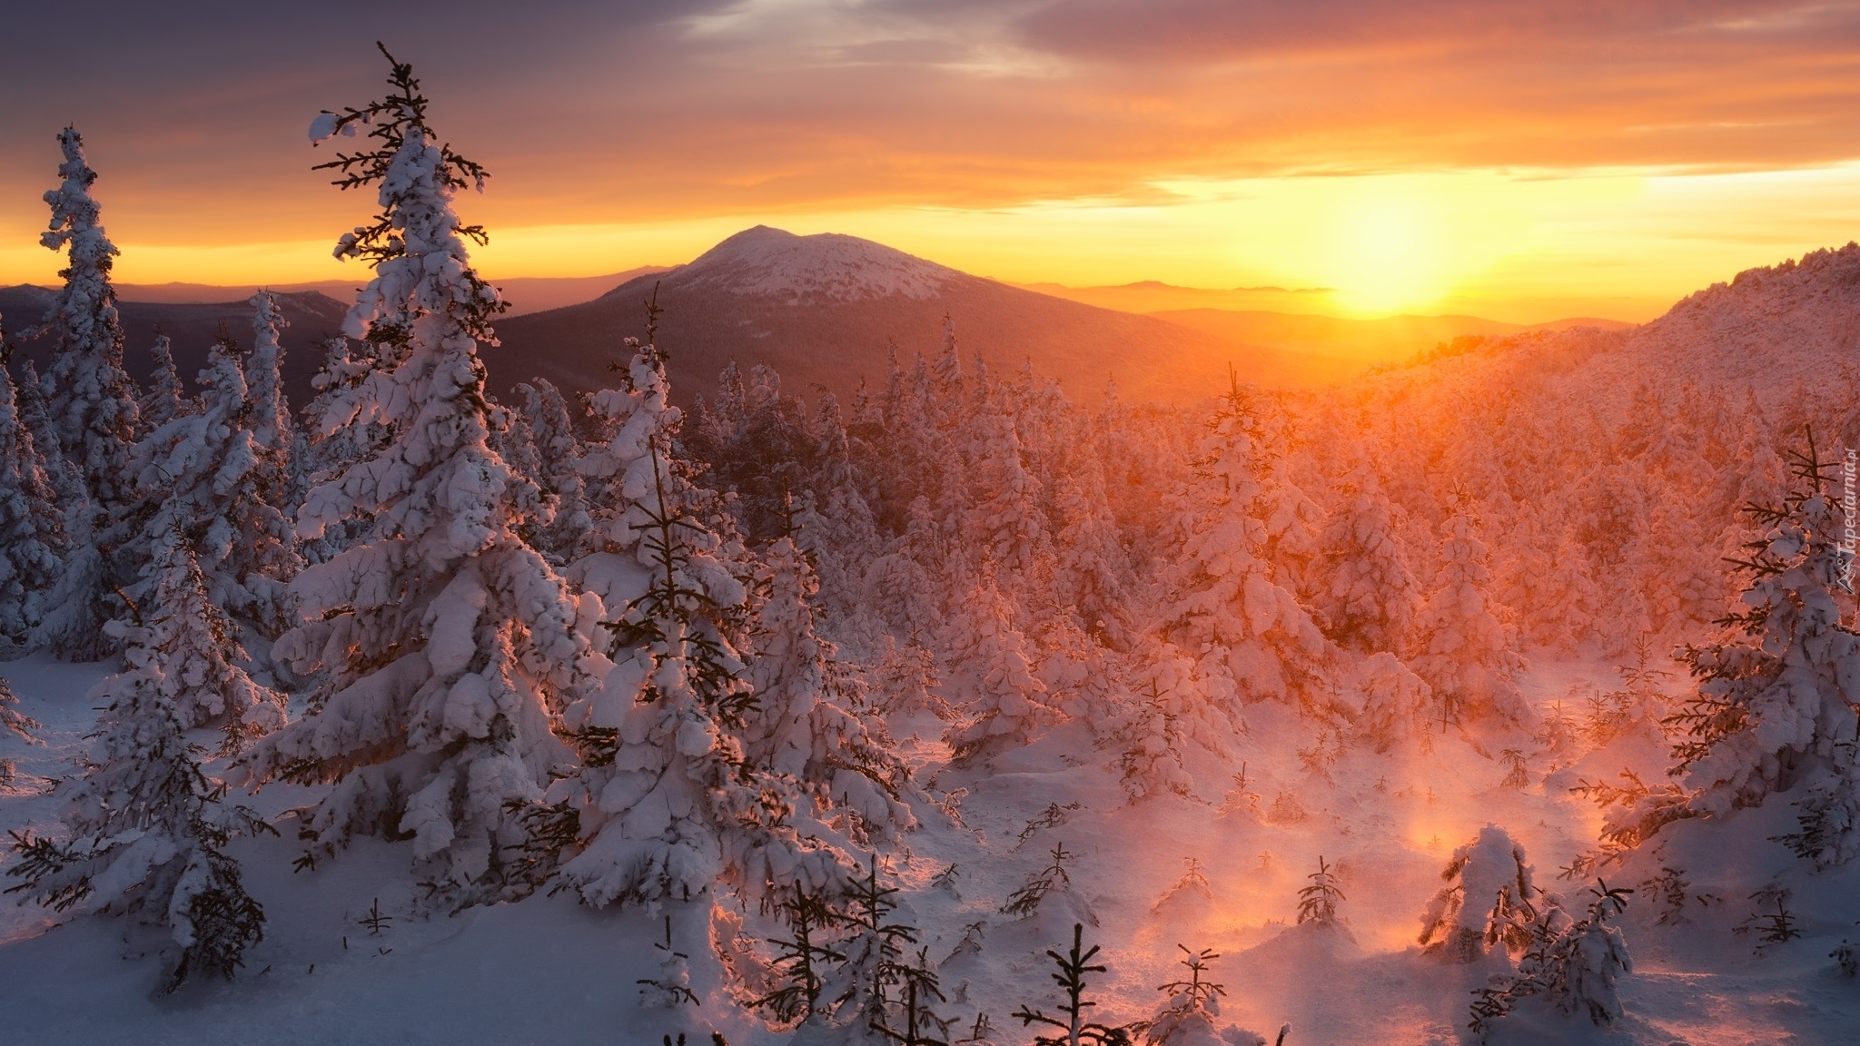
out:
{"label": "small snowy spruce with dark lower branches at far lower left", "polygon": [[167,929],[179,949],[166,981],[173,990],[197,973],[231,977],[264,936],[264,910],[225,847],[272,826],[225,802],[225,785],[201,771],[205,754],[188,743],[177,700],[199,702],[197,691],[216,681],[197,677],[192,642],[203,622],[188,618],[199,607],[192,555],[179,538],[166,551],[151,620],[106,625],[125,644],[126,668],[91,691],[106,707],[84,776],[54,791],[71,838],[15,832],[7,875],[20,882],[7,892],[60,912],[82,903]]}

